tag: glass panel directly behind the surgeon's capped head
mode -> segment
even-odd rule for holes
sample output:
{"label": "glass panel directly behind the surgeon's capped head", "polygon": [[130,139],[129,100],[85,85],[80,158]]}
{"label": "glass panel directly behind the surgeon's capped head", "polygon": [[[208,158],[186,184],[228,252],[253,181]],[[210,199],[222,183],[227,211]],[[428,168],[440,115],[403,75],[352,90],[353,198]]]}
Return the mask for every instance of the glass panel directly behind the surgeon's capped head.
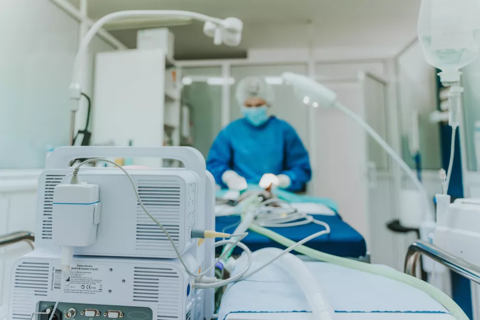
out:
{"label": "glass panel directly behind the surgeon's capped head", "polygon": [[[242,117],[240,106],[236,101],[236,84],[245,77],[275,77],[279,80],[283,72],[295,72],[299,74],[307,74],[307,66],[304,64],[294,65],[250,65],[250,66],[233,66],[231,74],[235,83],[232,85],[230,115],[232,120]],[[275,102],[273,103],[271,112],[280,119],[287,120],[288,123],[295,128],[298,135],[307,148],[308,130],[307,130],[307,107],[293,93],[293,87],[286,84],[273,85],[275,92]]]}

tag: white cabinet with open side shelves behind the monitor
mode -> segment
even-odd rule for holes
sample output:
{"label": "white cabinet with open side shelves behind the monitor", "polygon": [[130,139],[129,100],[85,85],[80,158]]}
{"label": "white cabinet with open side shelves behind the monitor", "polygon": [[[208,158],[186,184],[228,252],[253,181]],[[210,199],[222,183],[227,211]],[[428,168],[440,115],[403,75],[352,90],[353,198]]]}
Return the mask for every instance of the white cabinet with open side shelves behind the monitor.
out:
{"label": "white cabinet with open side shelves behind the monitor", "polygon": [[[133,49],[96,55],[92,143],[179,146],[181,84],[175,61],[162,49]],[[158,167],[157,159],[134,164]]]}

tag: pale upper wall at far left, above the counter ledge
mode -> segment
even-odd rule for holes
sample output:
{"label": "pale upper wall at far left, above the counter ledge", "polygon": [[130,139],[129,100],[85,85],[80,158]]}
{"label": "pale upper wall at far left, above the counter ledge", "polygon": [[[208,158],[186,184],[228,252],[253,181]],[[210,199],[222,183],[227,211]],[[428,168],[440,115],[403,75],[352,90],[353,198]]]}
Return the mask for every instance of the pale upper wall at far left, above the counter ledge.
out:
{"label": "pale upper wall at far left, above the counter ledge", "polygon": [[[78,28],[49,0],[0,1],[0,168],[43,167],[47,145],[68,144]],[[96,39],[88,78],[92,53],[104,50],[112,48]]]}

